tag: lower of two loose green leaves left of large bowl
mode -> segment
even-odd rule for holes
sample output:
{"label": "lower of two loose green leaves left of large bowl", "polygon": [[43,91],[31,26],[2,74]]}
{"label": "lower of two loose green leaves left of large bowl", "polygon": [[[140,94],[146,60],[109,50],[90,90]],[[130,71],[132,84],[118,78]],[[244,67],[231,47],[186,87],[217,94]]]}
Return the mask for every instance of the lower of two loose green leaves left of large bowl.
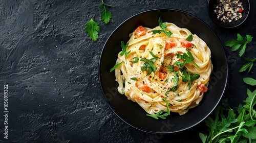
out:
{"label": "lower of two loose green leaves left of large bowl", "polygon": [[94,42],[98,40],[98,32],[100,32],[100,27],[98,26],[98,23],[93,20],[93,18],[86,23],[86,28],[84,28],[84,30],[86,33],[88,33],[91,40]]}

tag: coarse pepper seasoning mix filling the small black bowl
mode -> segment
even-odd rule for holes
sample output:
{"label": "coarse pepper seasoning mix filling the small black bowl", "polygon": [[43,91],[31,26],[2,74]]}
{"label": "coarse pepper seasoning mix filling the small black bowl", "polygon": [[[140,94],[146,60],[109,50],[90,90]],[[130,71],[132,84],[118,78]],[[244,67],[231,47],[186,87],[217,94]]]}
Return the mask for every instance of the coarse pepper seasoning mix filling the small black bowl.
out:
{"label": "coarse pepper seasoning mix filling the small black bowl", "polygon": [[242,17],[244,11],[240,0],[217,0],[214,8],[217,18],[223,22],[237,21]]}

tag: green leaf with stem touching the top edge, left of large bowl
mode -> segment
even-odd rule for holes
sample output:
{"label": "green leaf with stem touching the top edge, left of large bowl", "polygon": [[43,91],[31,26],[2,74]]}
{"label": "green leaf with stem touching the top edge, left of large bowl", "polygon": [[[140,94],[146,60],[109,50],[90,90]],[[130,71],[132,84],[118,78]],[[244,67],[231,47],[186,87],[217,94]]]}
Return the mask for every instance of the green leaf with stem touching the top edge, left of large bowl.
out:
{"label": "green leaf with stem touching the top edge, left of large bowl", "polygon": [[108,24],[110,22],[110,19],[112,18],[112,14],[109,10],[106,9],[106,7],[114,7],[114,6],[104,4],[103,0],[101,0],[101,2],[102,4],[98,7],[98,10],[103,9],[100,14],[100,20]]}

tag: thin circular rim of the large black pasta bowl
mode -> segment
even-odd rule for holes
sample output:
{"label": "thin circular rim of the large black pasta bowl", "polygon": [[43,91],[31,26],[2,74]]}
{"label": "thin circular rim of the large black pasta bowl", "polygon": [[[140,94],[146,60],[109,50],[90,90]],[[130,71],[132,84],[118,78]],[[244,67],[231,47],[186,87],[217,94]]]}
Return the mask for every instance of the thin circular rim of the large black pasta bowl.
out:
{"label": "thin circular rim of the large black pasta bowl", "polygon": [[[121,25],[123,25],[123,23],[125,23],[126,21],[130,20],[131,18],[137,16],[137,15],[140,15],[140,14],[143,14],[143,13],[146,13],[146,12],[150,12],[150,11],[158,11],[158,10],[172,10],[172,11],[178,11],[178,12],[181,12],[181,13],[184,13],[184,14],[188,14],[190,16],[193,16],[194,18],[196,18],[198,21],[202,22],[205,27],[208,28],[208,30],[218,39],[218,41],[221,41],[219,39],[219,37],[215,34],[215,32],[207,25],[206,22],[204,22],[203,20],[201,20],[200,18],[198,18],[197,16],[191,14],[191,13],[188,13],[188,12],[185,12],[185,11],[182,11],[182,10],[179,10],[179,9],[174,9],[174,8],[154,8],[154,9],[148,9],[148,10],[145,10],[145,11],[141,11],[141,12],[138,12],[136,14],[133,14],[132,16],[126,18],[124,21],[122,21],[113,31],[112,33],[109,35],[109,37],[106,39],[104,45],[103,45],[103,48],[102,48],[102,51],[101,51],[101,54],[100,54],[100,58],[99,58],[99,63],[98,63],[98,77],[99,77],[99,83],[100,83],[100,88],[101,88],[101,91],[102,91],[102,96],[103,96],[103,99],[108,103],[109,107],[111,108],[111,110],[119,117],[121,118],[121,120],[123,122],[125,122],[127,125],[130,125],[132,126],[133,128],[135,129],[138,129],[140,131],[143,131],[143,132],[147,132],[147,133],[154,133],[154,134],[174,134],[174,133],[180,133],[180,132],[183,132],[183,131],[186,131],[186,130],[189,130],[197,125],[199,125],[200,123],[202,123],[216,108],[217,106],[219,105],[221,99],[223,98],[224,94],[225,94],[225,91],[226,91],[226,87],[227,87],[227,83],[228,83],[228,74],[229,74],[229,69],[228,69],[228,63],[227,63],[227,57],[226,57],[226,54],[225,54],[225,51],[224,51],[224,47],[223,47],[223,44],[221,44],[221,47],[222,47],[222,52],[224,53],[224,59],[225,59],[225,66],[227,67],[226,69],[226,77],[225,77],[225,83],[224,83],[224,87],[223,87],[223,90],[220,92],[220,98],[218,99],[218,102],[216,102],[216,104],[214,105],[214,107],[212,109],[210,109],[210,111],[204,116],[201,118],[201,120],[197,121],[195,124],[191,125],[191,126],[188,126],[186,128],[183,128],[183,129],[180,129],[180,130],[176,130],[176,131],[168,131],[168,132],[158,132],[158,131],[148,131],[148,130],[145,130],[145,129],[142,129],[140,127],[137,127],[131,123],[129,123],[128,121],[125,120],[125,118],[123,118],[121,115],[119,115],[115,109],[112,107],[112,105],[110,104],[110,102],[108,101],[108,99],[106,98],[105,96],[105,92],[103,90],[103,86],[102,86],[102,81],[101,81],[101,76],[100,76],[100,65],[101,65],[101,61],[102,61],[102,54],[105,50],[105,46],[107,44],[107,42],[109,41],[109,39],[111,38],[111,36],[113,35],[113,33],[116,32],[116,30],[121,27]],[[220,42],[221,43],[221,42]]]}

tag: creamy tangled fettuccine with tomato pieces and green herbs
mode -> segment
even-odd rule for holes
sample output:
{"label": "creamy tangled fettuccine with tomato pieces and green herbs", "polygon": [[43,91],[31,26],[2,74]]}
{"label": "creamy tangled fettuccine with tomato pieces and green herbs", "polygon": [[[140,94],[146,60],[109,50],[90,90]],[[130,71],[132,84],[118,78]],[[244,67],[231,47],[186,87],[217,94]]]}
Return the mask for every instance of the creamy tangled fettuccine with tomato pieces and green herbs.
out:
{"label": "creamy tangled fettuccine with tomato pieces and green herbs", "polygon": [[170,22],[164,25],[167,32],[172,32],[170,37],[159,32],[159,26],[139,27],[131,34],[123,49],[128,54],[121,51],[116,61],[122,62],[115,68],[118,91],[148,114],[169,108],[183,115],[196,107],[207,91],[213,68],[210,49],[189,30]]}

